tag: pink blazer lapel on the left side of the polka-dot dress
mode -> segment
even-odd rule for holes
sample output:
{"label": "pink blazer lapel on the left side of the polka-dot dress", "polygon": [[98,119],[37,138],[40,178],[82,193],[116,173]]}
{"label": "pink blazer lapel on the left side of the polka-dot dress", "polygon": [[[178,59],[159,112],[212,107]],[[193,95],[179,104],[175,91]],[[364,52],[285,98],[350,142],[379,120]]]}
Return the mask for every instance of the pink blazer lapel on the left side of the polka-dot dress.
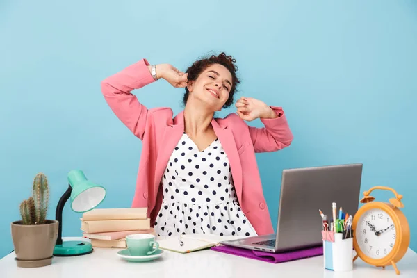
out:
{"label": "pink blazer lapel on the left side of the polka-dot dress", "polygon": [[158,151],[158,157],[156,158],[155,166],[155,178],[154,178],[154,195],[158,194],[159,184],[161,183],[161,178],[167,163],[170,160],[170,156],[174,147],[178,144],[179,138],[183,135],[184,125],[183,125],[183,112],[179,113],[174,119],[173,124],[168,124],[165,126],[163,132],[163,142],[161,148]]}

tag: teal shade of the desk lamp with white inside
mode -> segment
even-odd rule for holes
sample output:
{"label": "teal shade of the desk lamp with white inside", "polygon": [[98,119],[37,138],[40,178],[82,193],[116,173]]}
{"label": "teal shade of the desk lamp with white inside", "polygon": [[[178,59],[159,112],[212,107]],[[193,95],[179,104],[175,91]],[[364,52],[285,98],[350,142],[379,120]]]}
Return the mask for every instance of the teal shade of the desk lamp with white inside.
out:
{"label": "teal shade of the desk lamp with white inside", "polygon": [[104,187],[88,181],[81,170],[69,172],[68,181],[72,187],[71,208],[77,213],[92,210],[106,197]]}

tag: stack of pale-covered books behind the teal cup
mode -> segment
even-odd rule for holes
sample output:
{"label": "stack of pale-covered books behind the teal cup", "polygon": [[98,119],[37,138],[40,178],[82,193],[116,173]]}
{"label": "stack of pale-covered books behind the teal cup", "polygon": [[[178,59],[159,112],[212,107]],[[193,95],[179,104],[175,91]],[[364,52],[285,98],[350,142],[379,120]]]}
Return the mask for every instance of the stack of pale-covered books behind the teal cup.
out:
{"label": "stack of pale-covered books behind the teal cup", "polygon": [[95,208],[81,218],[83,238],[92,247],[126,248],[129,234],[155,234],[147,208]]}

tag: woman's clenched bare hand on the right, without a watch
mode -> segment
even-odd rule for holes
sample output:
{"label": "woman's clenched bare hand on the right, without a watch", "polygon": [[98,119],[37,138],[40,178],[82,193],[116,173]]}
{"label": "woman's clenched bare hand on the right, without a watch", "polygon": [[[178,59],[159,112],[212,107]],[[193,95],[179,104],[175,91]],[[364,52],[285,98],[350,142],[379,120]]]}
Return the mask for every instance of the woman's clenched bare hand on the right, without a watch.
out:
{"label": "woman's clenched bare hand on the right, without a watch", "polygon": [[240,119],[253,121],[256,118],[272,119],[278,117],[270,106],[266,105],[259,99],[252,97],[241,97],[236,101],[236,107],[238,108],[238,115]]}

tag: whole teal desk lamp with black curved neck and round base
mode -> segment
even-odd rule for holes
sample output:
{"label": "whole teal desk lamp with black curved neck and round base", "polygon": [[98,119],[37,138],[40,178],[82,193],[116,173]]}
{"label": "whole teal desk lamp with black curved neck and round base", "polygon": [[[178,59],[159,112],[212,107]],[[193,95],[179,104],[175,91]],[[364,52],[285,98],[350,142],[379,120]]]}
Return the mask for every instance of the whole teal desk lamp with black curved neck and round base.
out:
{"label": "whole teal desk lamp with black curved neck and round base", "polygon": [[54,256],[78,256],[92,252],[91,243],[85,241],[62,239],[63,232],[63,208],[71,197],[72,211],[83,213],[98,206],[106,197],[106,189],[85,177],[81,170],[72,170],[68,173],[68,189],[60,197],[56,206],[56,220],[58,220],[58,238],[54,248]]}

